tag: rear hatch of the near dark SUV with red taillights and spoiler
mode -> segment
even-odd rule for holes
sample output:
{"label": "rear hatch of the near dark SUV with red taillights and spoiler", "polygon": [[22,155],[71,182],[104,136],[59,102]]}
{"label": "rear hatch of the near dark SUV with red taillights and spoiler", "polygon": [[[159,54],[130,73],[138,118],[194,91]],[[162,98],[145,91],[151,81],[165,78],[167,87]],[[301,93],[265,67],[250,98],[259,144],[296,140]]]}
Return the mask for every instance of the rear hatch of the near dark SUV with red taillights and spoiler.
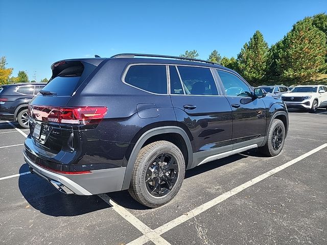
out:
{"label": "rear hatch of the near dark SUV with red taillights and spoiler", "polygon": [[72,108],[67,103],[102,61],[67,60],[52,65],[52,78],[29,105],[31,134],[25,143],[28,152],[58,163],[62,158],[69,163],[77,157],[78,131],[95,128],[106,108]]}

